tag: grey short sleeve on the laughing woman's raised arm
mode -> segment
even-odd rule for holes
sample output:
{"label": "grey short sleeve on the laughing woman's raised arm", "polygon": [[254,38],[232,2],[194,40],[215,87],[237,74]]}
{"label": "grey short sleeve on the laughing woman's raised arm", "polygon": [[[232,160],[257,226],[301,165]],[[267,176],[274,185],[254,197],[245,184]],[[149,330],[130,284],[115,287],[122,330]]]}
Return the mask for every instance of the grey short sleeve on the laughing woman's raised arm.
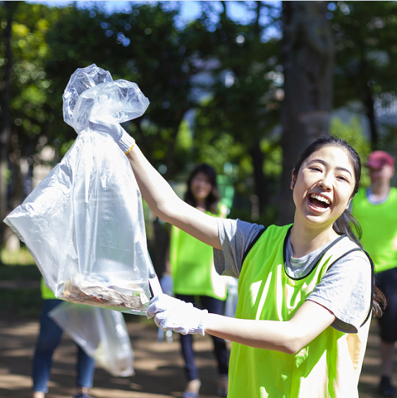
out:
{"label": "grey short sleeve on the laughing woman's raised arm", "polygon": [[262,234],[264,226],[240,219],[217,218],[216,221],[222,245],[222,250],[214,248],[216,272],[238,278],[244,255]]}

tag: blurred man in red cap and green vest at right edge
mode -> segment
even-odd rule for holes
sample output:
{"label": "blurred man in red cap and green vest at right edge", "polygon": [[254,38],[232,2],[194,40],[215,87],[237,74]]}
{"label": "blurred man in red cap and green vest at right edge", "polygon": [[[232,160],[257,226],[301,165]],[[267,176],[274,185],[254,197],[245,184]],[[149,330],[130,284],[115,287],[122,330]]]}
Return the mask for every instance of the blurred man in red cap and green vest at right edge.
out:
{"label": "blurred man in red cap and green vest at right edge", "polygon": [[375,283],[387,299],[386,310],[379,318],[379,390],[384,397],[397,397],[390,381],[397,341],[397,188],[390,186],[394,158],[383,150],[376,150],[369,154],[367,167],[371,186],[361,188],[353,198],[353,215],[362,228],[362,246],[374,260]]}

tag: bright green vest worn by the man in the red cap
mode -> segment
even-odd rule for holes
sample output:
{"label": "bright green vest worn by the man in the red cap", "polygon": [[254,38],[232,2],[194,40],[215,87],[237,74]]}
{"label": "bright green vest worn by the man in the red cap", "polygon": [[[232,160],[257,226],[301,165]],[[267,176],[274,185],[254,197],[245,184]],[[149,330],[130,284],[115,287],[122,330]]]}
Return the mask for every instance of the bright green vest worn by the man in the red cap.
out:
{"label": "bright green vest worn by the man in the red cap", "polygon": [[375,272],[397,267],[397,188],[377,205],[369,203],[365,188],[353,198],[353,215],[362,229],[361,244],[375,265]]}

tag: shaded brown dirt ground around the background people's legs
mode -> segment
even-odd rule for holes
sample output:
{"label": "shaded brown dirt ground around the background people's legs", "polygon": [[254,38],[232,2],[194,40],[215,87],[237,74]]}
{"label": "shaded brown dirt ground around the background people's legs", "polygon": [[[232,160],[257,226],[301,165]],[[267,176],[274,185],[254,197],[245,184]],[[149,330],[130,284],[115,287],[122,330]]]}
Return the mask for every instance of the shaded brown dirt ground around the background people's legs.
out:
{"label": "shaded brown dirt ground around the background people's legs", "polygon": [[[135,351],[135,375],[115,378],[97,368],[94,398],[164,398],[182,397],[185,378],[177,339],[157,343],[157,329],[152,325],[128,322],[128,332]],[[0,320],[0,397],[30,398],[32,381],[30,363],[38,333],[38,322]],[[174,334],[174,337],[176,335]],[[360,378],[360,398],[378,398],[379,355],[377,323],[372,322],[364,367]],[[195,337],[197,365],[200,367],[201,398],[216,397],[216,368],[208,336]],[[396,361],[397,363],[397,361]],[[47,398],[71,398],[75,382],[75,344],[67,336],[54,355]],[[397,385],[397,373],[393,374]]]}

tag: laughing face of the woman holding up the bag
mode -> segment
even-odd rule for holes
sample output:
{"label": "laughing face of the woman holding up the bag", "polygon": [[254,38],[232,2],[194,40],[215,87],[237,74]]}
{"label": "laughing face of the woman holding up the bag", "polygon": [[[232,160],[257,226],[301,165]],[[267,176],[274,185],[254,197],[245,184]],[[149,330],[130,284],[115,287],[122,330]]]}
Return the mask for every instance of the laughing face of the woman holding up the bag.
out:
{"label": "laughing face of the woman holding up the bag", "polygon": [[334,224],[353,195],[355,174],[348,154],[327,146],[307,157],[292,177],[295,217],[309,224]]}

